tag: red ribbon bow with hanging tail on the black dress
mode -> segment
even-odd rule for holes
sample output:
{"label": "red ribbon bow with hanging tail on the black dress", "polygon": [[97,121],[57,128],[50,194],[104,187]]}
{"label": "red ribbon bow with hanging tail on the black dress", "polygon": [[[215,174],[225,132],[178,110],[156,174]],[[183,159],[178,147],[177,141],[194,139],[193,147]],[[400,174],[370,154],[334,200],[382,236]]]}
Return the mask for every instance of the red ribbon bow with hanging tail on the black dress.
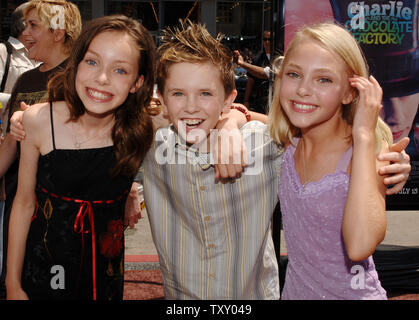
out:
{"label": "red ribbon bow with hanging tail on the black dress", "polygon": [[74,231],[81,233],[82,243],[84,243],[83,234],[89,233],[89,230],[84,229],[84,218],[86,214],[89,218],[89,223],[92,231],[92,274],[93,274],[93,300],[96,300],[96,242],[95,242],[95,220],[93,218],[93,209],[90,201],[74,199],[74,202],[80,203],[79,212],[77,213],[74,222]]}

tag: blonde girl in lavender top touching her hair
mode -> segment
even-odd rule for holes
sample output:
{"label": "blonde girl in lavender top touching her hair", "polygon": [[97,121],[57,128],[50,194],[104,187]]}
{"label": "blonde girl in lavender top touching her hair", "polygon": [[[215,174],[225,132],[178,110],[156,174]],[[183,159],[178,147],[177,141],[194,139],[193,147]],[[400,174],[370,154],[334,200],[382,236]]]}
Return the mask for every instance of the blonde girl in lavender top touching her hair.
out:
{"label": "blonde girl in lavender top touching her hair", "polygon": [[386,231],[386,163],[376,157],[392,144],[381,97],[344,28],[305,27],[290,43],[269,114],[273,139],[287,147],[283,299],[386,299],[371,257]]}

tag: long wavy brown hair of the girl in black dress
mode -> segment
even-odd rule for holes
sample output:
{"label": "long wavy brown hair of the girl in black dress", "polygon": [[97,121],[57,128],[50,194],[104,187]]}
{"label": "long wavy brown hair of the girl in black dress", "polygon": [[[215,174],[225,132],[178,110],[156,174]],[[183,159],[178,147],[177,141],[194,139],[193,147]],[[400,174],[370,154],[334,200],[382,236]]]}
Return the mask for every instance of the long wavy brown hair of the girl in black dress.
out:
{"label": "long wavy brown hair of the girl in black dress", "polygon": [[150,33],[139,22],[123,15],[94,19],[83,29],[77,39],[63,72],[56,74],[48,83],[50,101],[65,100],[69,121],[76,121],[85,113],[77,95],[75,79],[77,67],[84,58],[92,40],[105,31],[121,31],[129,35],[139,50],[138,76],[144,83],[136,93],[129,93],[125,102],[115,111],[112,128],[117,164],[112,174],[133,175],[137,172],[153,139],[153,127],[148,106],[153,95],[155,45]]}

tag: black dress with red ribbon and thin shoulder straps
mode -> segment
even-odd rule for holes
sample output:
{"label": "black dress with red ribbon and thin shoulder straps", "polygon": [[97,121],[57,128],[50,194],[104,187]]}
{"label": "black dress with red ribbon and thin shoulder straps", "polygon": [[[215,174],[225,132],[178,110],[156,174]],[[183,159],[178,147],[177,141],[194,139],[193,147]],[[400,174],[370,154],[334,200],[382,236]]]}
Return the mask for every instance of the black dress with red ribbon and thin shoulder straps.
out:
{"label": "black dress with red ribbon and thin shoulder straps", "polygon": [[125,201],[133,177],[111,177],[112,146],[40,156],[22,287],[29,299],[123,298]]}

